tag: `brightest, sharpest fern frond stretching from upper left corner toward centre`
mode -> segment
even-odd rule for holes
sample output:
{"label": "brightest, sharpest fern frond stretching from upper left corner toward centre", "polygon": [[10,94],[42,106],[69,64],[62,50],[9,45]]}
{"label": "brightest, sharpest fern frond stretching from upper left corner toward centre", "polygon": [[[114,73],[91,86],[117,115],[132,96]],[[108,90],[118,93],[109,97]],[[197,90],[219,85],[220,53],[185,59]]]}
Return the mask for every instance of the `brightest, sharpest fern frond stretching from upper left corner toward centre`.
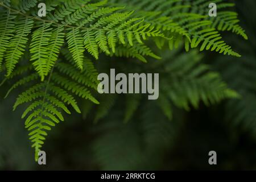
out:
{"label": "brightest, sharpest fern frond stretching from upper left corner toward centre", "polygon": [[13,72],[27,44],[30,61],[44,81],[65,42],[77,68],[82,70],[85,51],[98,59],[100,52],[107,55],[110,49],[115,52],[119,42],[134,46],[151,36],[164,37],[151,24],[143,23],[142,18],[130,18],[133,11],[118,13],[123,7],[107,7],[106,1],[56,2],[56,10],[49,12],[47,19],[30,15],[28,10],[32,11],[34,3],[28,6],[23,4],[26,1],[21,3],[23,6],[16,5],[17,9],[13,9],[13,6],[0,2],[3,13],[0,19],[0,65],[5,65],[6,76]]}

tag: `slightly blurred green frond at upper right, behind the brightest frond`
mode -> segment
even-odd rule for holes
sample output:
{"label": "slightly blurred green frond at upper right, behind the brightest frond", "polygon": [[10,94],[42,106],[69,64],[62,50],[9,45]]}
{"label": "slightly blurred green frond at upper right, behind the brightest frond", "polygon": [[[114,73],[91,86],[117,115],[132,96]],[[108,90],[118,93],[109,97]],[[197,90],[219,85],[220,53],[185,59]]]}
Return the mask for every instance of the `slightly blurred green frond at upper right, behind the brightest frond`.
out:
{"label": "slightly blurred green frond at upper right, behind the brightest frond", "polygon": [[[156,44],[162,48],[168,43],[170,49],[177,48],[185,43],[185,49],[200,47],[201,51],[210,50],[240,57],[237,52],[221,40],[218,31],[232,31],[247,39],[245,30],[238,24],[237,13],[226,10],[234,3],[225,0],[146,0],[127,1],[111,0],[114,6],[129,5],[127,9],[137,10],[135,16],[145,16],[145,22],[162,30],[166,36],[172,35],[173,39],[166,40],[155,38]],[[209,17],[209,4],[217,4],[217,17]],[[200,33],[199,33],[200,32]],[[196,42],[196,43],[195,43]]]}

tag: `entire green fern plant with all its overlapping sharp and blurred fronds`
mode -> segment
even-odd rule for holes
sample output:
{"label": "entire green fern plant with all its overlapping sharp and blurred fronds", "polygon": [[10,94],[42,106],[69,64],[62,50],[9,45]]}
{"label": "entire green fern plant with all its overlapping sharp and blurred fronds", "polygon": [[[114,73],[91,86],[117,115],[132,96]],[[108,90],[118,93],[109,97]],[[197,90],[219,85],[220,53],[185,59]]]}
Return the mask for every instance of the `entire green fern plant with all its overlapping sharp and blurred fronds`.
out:
{"label": "entire green fern plant with all its overlapping sharp and blurred fronds", "polygon": [[[38,2],[0,2],[0,68],[5,73],[1,85],[12,85],[6,97],[20,86],[25,89],[16,99],[14,110],[27,104],[22,118],[26,118],[35,159],[47,131],[64,120],[63,111],[71,114],[71,105],[81,113],[76,97],[100,104],[93,96],[98,84],[94,59],[135,57],[147,62],[148,57],[160,59],[154,53],[159,51],[155,45],[164,50],[166,44],[170,49],[184,44],[186,51],[198,47],[200,51],[240,57],[221,40],[218,30],[230,30],[247,39],[233,12],[224,11],[221,19],[208,18],[208,1],[142,1],[136,7],[135,1],[46,1],[46,18],[36,16]],[[218,2],[221,8],[233,6]],[[191,56],[196,57],[197,53],[192,51]],[[172,117],[172,104],[188,110],[189,104],[197,107],[200,100],[208,105],[238,97],[199,60],[188,62],[180,56],[174,62],[162,61],[147,69],[166,75],[159,105],[168,118]],[[168,75],[170,72],[173,75]],[[96,121],[114,103],[109,102],[108,96],[105,99],[98,108]],[[140,96],[127,102],[126,122],[138,107],[139,99]]]}

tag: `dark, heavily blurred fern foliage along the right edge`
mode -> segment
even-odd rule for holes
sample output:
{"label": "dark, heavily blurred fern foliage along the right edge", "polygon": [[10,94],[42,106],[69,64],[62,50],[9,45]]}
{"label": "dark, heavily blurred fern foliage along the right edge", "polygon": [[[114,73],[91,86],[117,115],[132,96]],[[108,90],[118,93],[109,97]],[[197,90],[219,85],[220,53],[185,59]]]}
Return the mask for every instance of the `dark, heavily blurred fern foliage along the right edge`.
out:
{"label": "dark, heavily blurred fern foliage along the right edge", "polygon": [[[243,17],[250,15],[255,16],[254,2],[247,2],[245,5],[238,4]],[[255,139],[255,103],[256,103],[256,64],[255,64],[255,48],[253,40],[256,39],[254,34],[255,22],[253,19],[247,20],[247,35],[250,37],[246,43],[237,44],[237,48],[244,54],[241,59],[230,59],[219,57],[214,62],[214,67],[221,73],[224,80],[229,84],[230,88],[237,90],[241,94],[241,100],[230,100],[225,104],[225,120],[229,122],[232,129],[238,127],[243,133],[248,133]],[[233,35],[229,35],[227,39],[234,40]]]}

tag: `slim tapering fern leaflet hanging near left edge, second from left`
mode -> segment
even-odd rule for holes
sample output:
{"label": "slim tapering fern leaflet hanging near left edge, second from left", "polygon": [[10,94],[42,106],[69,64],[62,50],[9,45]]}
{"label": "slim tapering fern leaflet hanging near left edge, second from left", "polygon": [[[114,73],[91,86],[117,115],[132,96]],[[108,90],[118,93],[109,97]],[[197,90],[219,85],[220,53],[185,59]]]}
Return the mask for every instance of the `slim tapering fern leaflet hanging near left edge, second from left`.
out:
{"label": "slim tapering fern leaflet hanging near left edge, second from left", "polygon": [[9,48],[5,55],[7,69],[6,76],[10,76],[20,57],[22,57],[28,41],[27,36],[31,32],[33,24],[34,22],[31,18],[22,18],[19,19],[19,22],[15,25],[15,36],[11,38]]}

